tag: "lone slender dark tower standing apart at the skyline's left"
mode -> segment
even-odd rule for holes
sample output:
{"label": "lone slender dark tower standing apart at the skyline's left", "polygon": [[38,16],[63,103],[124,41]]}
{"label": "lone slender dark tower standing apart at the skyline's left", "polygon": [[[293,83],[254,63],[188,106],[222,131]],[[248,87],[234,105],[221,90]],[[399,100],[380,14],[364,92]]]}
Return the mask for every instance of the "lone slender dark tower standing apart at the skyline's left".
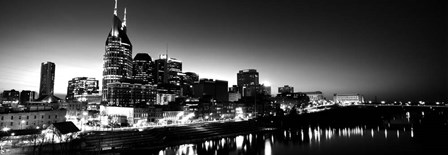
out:
{"label": "lone slender dark tower standing apart at the skyline's left", "polygon": [[54,73],[56,65],[52,62],[42,62],[40,68],[39,98],[53,95],[54,93]]}

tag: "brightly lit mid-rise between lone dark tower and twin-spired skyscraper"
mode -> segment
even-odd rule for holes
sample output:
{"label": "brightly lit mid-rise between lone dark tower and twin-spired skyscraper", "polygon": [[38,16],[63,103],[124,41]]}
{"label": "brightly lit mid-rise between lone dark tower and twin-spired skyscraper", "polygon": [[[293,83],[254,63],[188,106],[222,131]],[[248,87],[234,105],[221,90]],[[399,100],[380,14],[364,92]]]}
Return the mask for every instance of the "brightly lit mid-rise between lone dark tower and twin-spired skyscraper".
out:
{"label": "brightly lit mid-rise between lone dark tower and twin-spired skyscraper", "polygon": [[68,81],[66,100],[87,101],[92,96],[99,95],[99,82],[95,78],[75,77]]}

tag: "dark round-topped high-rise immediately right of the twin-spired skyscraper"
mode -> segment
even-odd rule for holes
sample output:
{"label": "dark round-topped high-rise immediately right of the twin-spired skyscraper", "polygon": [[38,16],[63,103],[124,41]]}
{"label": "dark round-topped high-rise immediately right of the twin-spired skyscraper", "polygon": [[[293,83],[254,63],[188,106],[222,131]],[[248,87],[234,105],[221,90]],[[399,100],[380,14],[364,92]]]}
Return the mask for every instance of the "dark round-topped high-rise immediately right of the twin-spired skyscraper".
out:
{"label": "dark round-topped high-rise immediately right of the twin-spired skyscraper", "polygon": [[148,53],[137,53],[134,57],[132,69],[132,77],[134,80],[138,80],[146,84],[154,83],[153,62]]}

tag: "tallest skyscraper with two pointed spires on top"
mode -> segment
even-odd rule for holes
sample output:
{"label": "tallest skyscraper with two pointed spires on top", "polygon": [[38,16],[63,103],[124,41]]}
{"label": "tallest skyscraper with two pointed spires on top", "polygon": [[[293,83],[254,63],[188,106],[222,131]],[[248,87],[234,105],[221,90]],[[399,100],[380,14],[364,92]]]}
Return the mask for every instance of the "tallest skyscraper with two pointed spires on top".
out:
{"label": "tallest skyscraper with two pointed spires on top", "polygon": [[108,84],[132,78],[132,44],[126,32],[126,8],[122,22],[117,16],[117,1],[115,1],[112,29],[106,39],[104,54],[103,101],[108,95]]}

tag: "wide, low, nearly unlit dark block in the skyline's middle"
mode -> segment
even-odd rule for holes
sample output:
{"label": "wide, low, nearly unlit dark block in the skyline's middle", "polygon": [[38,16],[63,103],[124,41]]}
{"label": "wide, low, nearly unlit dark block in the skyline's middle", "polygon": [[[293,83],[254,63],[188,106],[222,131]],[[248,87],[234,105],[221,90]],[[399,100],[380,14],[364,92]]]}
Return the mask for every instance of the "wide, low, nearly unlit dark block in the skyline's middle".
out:
{"label": "wide, low, nearly unlit dark block in the skyline's middle", "polygon": [[227,87],[227,81],[200,79],[199,82],[193,85],[194,97],[214,99],[217,102],[227,102],[229,100]]}

